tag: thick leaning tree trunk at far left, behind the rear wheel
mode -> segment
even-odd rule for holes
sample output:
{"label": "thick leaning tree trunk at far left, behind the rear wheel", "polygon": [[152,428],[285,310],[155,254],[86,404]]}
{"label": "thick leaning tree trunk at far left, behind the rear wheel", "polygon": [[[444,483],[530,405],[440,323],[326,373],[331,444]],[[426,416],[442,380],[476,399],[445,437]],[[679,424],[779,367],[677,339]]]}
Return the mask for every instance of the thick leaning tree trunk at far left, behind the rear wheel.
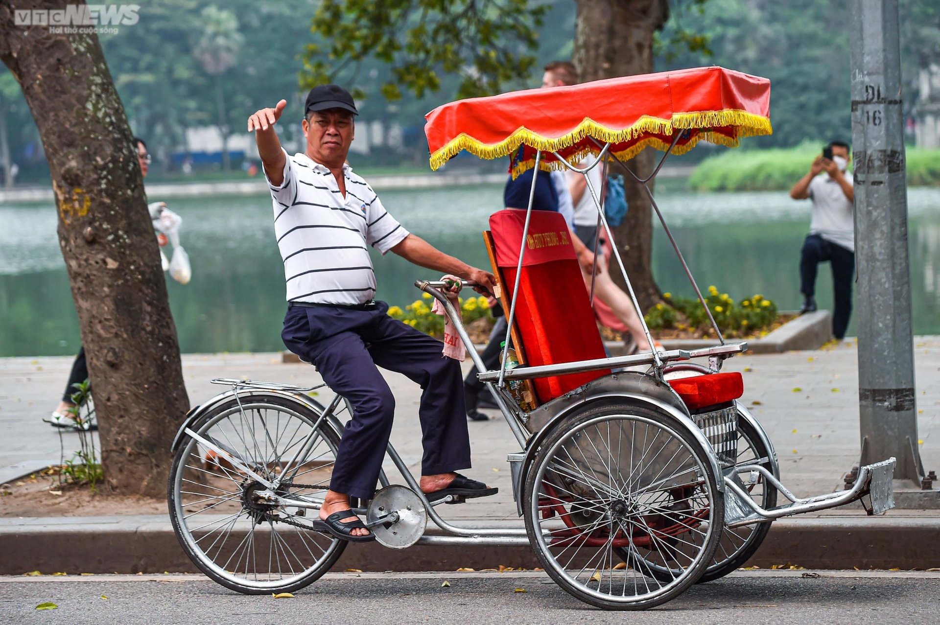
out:
{"label": "thick leaning tree trunk at far left, behind the rear wheel", "polygon": [[4,3],[0,59],[23,87],[49,161],[105,479],[118,492],[163,496],[189,400],[131,129],[98,36],[15,25]]}

